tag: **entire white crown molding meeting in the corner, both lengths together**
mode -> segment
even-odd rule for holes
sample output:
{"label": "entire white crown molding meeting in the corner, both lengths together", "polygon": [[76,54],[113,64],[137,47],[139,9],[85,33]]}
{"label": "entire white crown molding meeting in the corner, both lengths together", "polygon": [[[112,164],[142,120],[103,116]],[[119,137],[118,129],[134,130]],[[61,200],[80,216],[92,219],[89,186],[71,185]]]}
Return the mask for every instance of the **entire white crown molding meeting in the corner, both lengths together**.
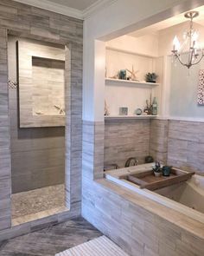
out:
{"label": "entire white crown molding meeting in the corner, both lengths together", "polygon": [[112,3],[118,0],[98,0],[96,3],[92,3],[85,10],[77,10],[59,3],[53,3],[48,0],[14,0],[19,3],[29,4],[44,10],[50,10],[62,15],[72,16],[78,19],[86,19],[88,16],[91,16],[97,13],[99,10],[104,9],[107,6],[110,6]]}

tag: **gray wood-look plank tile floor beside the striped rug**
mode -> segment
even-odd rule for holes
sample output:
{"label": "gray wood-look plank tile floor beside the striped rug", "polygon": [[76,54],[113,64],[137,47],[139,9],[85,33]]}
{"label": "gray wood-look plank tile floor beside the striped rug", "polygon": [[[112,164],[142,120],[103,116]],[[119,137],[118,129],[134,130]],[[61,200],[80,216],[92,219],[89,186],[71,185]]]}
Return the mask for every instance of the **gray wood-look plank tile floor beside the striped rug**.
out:
{"label": "gray wood-look plank tile floor beside the striped rug", "polygon": [[101,235],[94,226],[80,217],[0,242],[0,256],[54,256]]}

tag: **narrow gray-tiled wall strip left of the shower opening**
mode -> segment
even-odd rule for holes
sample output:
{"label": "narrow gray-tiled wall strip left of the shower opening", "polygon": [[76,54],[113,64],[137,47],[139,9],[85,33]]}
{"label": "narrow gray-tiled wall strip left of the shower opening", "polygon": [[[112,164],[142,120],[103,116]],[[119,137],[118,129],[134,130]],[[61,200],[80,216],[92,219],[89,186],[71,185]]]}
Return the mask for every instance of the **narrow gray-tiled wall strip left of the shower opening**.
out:
{"label": "narrow gray-tiled wall strip left of the shower opening", "polygon": [[11,226],[7,30],[0,29],[0,230]]}

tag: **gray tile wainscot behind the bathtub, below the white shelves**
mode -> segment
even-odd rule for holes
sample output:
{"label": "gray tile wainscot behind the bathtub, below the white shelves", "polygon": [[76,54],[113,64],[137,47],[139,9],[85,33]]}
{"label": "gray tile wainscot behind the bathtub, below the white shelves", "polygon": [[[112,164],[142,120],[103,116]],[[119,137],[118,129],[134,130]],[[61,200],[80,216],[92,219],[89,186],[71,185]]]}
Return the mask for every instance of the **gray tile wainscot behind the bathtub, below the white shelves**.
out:
{"label": "gray tile wainscot behind the bathtub, below the white shelves", "polygon": [[105,165],[124,167],[128,157],[143,163],[150,154],[184,170],[204,173],[204,123],[194,121],[105,121]]}

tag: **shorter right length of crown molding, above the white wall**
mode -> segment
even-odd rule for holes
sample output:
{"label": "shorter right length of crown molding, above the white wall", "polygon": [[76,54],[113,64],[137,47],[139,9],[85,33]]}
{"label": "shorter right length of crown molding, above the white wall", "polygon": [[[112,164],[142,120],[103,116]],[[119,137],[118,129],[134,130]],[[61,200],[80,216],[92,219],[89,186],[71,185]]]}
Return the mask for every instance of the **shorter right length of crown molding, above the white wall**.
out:
{"label": "shorter right length of crown molding, above the white wall", "polygon": [[112,5],[112,3],[115,3],[116,1],[118,0],[98,0],[95,3],[92,3],[92,5],[87,7],[85,10],[83,10],[82,16],[84,19],[86,19],[87,17],[97,13],[99,10]]}

